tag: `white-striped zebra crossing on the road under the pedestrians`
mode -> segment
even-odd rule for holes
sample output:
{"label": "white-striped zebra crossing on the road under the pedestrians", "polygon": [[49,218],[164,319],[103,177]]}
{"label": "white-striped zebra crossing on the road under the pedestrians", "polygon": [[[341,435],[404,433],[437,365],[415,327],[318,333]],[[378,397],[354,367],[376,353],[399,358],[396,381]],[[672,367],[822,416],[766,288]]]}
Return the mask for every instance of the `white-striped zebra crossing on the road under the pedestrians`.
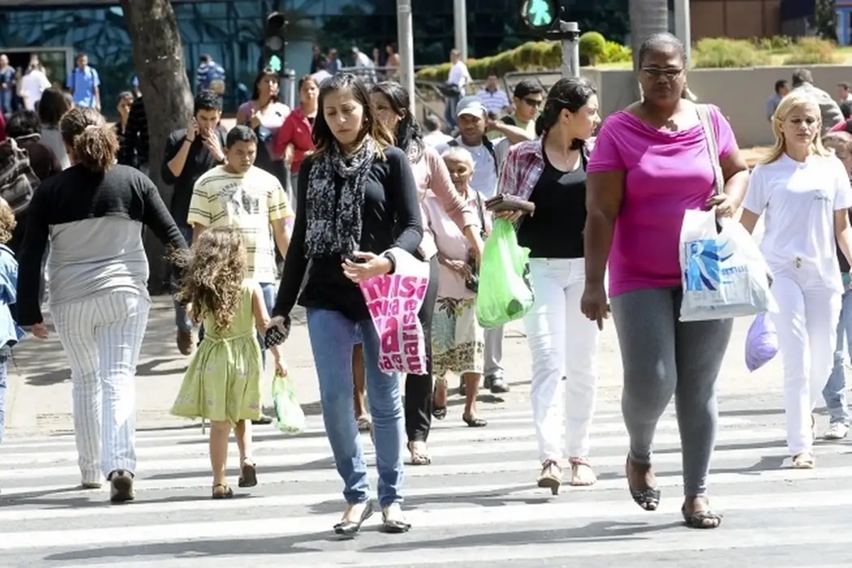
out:
{"label": "white-striped zebra crossing on the road under the pedestrians", "polygon": [[[207,440],[198,424],[138,433],[136,501],[110,505],[108,490],[83,491],[72,436],[6,439],[0,446],[0,566],[783,566],[843,565],[852,558],[852,444],[820,442],[817,468],[792,470],[783,415],[732,412],[720,421],[711,474],[715,531],[682,527],[681,453],[673,410],[654,455],[663,491],[647,513],[624,479],[627,436],[617,404],[596,412],[591,462],[599,477],[559,496],[535,487],[532,412],[481,405],[485,428],[465,427],[459,406],[435,422],[433,464],[406,467],[412,531],[354,539],[332,534],[343,510],[320,416],[286,437],[255,428],[260,485],[210,499]],[[769,422],[769,423],[768,423]],[[375,484],[375,456],[365,450]],[[567,477],[569,472],[566,472]],[[375,485],[374,485],[375,487]]]}

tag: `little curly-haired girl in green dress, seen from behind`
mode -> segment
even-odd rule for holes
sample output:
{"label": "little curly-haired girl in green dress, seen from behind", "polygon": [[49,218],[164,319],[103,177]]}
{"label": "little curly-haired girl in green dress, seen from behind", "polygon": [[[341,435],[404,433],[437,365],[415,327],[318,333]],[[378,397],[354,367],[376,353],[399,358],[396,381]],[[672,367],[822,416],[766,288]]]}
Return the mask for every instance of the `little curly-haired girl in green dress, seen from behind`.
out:
{"label": "little curly-haired girl in green dress, seen from behind", "polygon": [[[261,346],[255,328],[266,331],[269,314],[259,284],[245,279],[243,239],[231,227],[202,232],[182,268],[177,298],[187,303],[204,339],[193,355],[172,414],[210,421],[213,498],[233,496],[225,473],[227,440],[233,428],[239,447],[239,487],[257,485],[251,459],[251,421],[261,416]],[[286,373],[279,347],[270,349],[276,369]]]}

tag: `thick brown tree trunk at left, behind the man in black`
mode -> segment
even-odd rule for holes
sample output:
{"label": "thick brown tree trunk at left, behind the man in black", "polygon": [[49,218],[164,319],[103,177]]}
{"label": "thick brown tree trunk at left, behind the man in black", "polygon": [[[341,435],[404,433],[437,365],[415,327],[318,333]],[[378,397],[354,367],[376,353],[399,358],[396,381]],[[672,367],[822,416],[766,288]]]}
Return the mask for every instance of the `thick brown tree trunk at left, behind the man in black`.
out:
{"label": "thick brown tree trunk at left, behind the man in black", "polygon": [[[139,89],[145,101],[150,141],[150,177],[165,204],[171,204],[172,188],[163,183],[165,143],[173,130],[185,128],[193,115],[193,95],[183,59],[183,43],[170,0],[121,0],[127,31],[133,42],[133,60]],[[177,220],[185,221],[185,220]],[[164,291],[168,262],[165,248],[152,232],[146,232],[145,250],[151,267],[148,289]]]}

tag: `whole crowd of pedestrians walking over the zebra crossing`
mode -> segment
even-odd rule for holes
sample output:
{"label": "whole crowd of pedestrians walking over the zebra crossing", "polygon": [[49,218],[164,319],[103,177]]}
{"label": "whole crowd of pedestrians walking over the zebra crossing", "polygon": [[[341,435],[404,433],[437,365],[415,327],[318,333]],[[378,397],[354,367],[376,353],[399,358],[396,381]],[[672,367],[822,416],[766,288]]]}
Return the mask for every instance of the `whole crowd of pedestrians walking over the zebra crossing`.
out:
{"label": "whole crowd of pedestrians walking over the zebra crossing", "polygon": [[[20,112],[7,125],[37,189],[23,206],[0,200],[0,241],[11,244],[0,246],[0,370],[20,328],[48,336],[46,280],[72,370],[81,484],[106,479],[112,502],[133,500],[134,376],[150,308],[141,228],[149,227],[172,254],[177,346],[193,354],[172,410],[210,421],[211,495],[234,495],[225,476],[232,431],[238,485],[262,480],[251,452],[251,424],[263,422],[259,384],[268,355],[287,372],[285,340],[298,304],[307,310],[325,433],[344,485],[333,529],[352,535],[378,512],[386,531],[405,532],[404,471],[432,463],[432,420],[449,416],[447,376],[461,379],[459,418],[468,427],[487,427],[476,405],[481,385],[509,390],[503,329],[483,328],[475,309],[485,243],[498,219],[509,221],[529,250],[534,290],[523,319],[538,440],[531,478],[553,494],[565,483],[596,483],[597,341],[612,318],[624,364],[630,498],[646,511],[663,498],[652,448],[674,398],[682,518],[714,529],[722,522],[708,496],[716,383],[733,320],[678,317],[682,219],[712,209],[751,231],[769,214],[762,250],[779,306],[770,316],[784,360],[786,444],[794,468],[814,468],[813,410],[826,385],[845,388],[832,368],[838,322],[849,332],[849,275],[838,259],[848,270],[852,135],[824,143],[820,100],[794,85],[770,118],[773,152],[750,173],[722,112],[684,96],[682,43],[658,34],[638,55],[642,100],[603,122],[596,88],[584,79],[562,79],[547,92],[524,81],[511,100],[489,82],[448,106],[455,135],[441,133],[434,117],[418,123],[400,84],[367,84],[346,72],[302,77],[291,109],[278,100],[278,75],[263,70],[229,131],[221,96],[202,89],[193,117],[155,164],[174,187],[168,206],[146,175],[147,152],[126,146],[147,146],[133,123],[140,99],[119,97],[122,118],[108,126],[96,73],[78,58],[74,81],[89,89],[87,104],[76,91],[69,101],[46,89],[38,114]],[[464,73],[458,67],[459,85]],[[492,214],[485,204],[498,195],[534,204],[534,215]],[[428,265],[417,313],[427,365],[400,377],[379,364],[381,339],[359,284],[394,273],[410,256]],[[845,401],[831,398],[832,424],[845,421]],[[376,449],[377,508],[360,430]],[[845,433],[834,427],[835,437]]]}

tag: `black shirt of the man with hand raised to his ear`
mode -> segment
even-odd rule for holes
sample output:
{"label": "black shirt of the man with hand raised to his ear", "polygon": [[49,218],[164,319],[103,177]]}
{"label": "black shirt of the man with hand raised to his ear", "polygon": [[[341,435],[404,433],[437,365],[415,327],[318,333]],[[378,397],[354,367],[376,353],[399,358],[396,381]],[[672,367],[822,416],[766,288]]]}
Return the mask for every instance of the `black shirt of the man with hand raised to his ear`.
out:
{"label": "black shirt of the man with hand raised to his ear", "polygon": [[[224,128],[216,129],[219,135],[219,142],[222,148],[225,147],[225,136],[227,132]],[[175,192],[171,198],[171,216],[175,218],[178,225],[187,224],[187,215],[189,215],[189,202],[193,198],[193,187],[195,182],[199,181],[199,177],[206,174],[210,169],[216,166],[216,159],[213,154],[204,147],[204,141],[201,136],[196,136],[195,140],[190,143],[189,153],[187,153],[187,161],[183,164],[181,175],[174,175],[169,169],[169,162],[175,159],[177,152],[180,152],[181,146],[187,140],[187,131],[185,129],[175,130],[169,136],[169,141],[165,144],[165,155],[163,158],[163,175],[164,183],[174,186]]]}

